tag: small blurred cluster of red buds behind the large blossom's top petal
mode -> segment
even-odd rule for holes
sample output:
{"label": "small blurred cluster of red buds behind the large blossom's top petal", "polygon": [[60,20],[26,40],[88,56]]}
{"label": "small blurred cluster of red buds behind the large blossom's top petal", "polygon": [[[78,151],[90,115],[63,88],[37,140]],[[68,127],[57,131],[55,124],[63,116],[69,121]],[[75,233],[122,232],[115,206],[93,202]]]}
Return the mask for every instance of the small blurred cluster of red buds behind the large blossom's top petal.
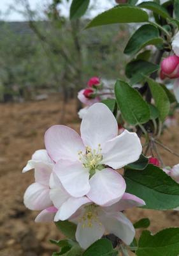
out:
{"label": "small blurred cluster of red buds behind the large blossom's top petal", "polygon": [[83,118],[92,104],[113,97],[113,88],[106,88],[99,77],[91,77],[87,83],[87,88],[78,92],[78,100],[85,104],[85,108],[78,112],[79,117]]}

